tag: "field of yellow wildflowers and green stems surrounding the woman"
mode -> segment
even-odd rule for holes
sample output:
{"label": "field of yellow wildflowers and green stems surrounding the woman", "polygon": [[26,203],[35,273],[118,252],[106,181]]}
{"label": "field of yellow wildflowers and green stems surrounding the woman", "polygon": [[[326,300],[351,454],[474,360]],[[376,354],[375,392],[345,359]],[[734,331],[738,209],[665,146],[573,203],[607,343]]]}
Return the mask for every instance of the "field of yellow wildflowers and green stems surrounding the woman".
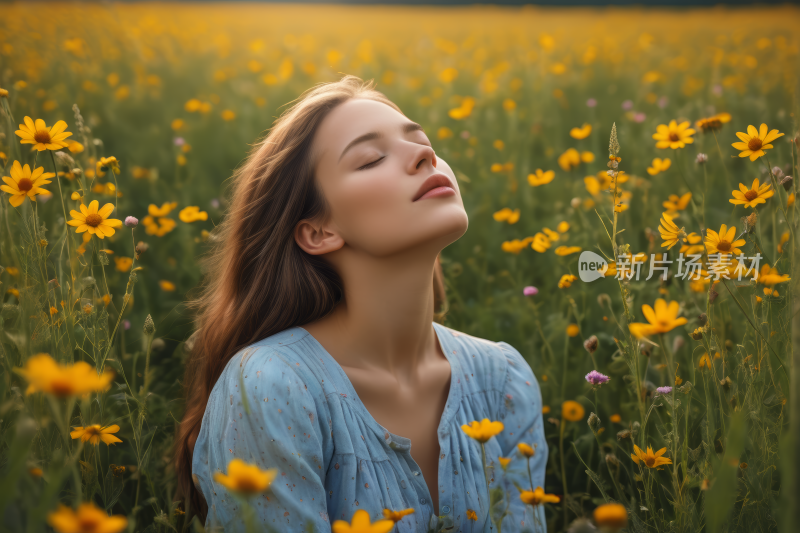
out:
{"label": "field of yellow wildflowers and green stems surrounding the woman", "polygon": [[[796,531],[800,9],[3,11],[0,531],[203,529],[171,466],[197,259],[249,145],[343,74],[459,180],[444,323],[539,380],[545,486],[495,488],[536,450],[487,457],[491,516],[522,498],[553,532]],[[402,521],[383,511],[333,530]]]}

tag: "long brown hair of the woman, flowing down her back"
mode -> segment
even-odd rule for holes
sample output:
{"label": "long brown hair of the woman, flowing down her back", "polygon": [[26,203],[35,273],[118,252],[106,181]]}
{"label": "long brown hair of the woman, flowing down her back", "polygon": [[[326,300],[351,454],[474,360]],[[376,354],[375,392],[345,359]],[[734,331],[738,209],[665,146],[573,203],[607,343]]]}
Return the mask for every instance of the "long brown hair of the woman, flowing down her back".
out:
{"label": "long brown hair of the woman, flowing down her back", "polygon": [[[300,220],[330,213],[311,160],[314,133],[327,114],[351,98],[377,100],[402,113],[373,84],[346,75],[307,90],[233,173],[230,208],[214,230],[200,297],[191,302],[197,331],[187,342],[186,411],[175,442],[178,497],[188,500],[184,508],[190,515],[205,520],[208,512],[192,481],[192,452],[225,365],[254,342],[327,315],[343,296],[331,265],[303,251],[293,233]],[[441,322],[447,300],[438,257],[433,293],[434,320]]]}

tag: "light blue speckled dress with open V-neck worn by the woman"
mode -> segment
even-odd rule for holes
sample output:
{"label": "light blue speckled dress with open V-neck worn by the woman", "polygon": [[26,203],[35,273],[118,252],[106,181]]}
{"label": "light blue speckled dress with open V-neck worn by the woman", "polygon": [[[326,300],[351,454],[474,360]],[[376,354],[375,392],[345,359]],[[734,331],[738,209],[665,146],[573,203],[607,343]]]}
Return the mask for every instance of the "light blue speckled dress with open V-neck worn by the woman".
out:
{"label": "light blue speckled dress with open V-neck worn by the woman", "polygon": [[[214,386],[194,448],[195,486],[208,504],[206,527],[243,530],[239,500],[214,481],[239,458],[276,468],[270,488],[253,496],[258,530],[330,532],[358,509],[374,521],[384,508],[414,508],[398,533],[494,531],[481,467],[481,447],[462,424],[500,420],[486,442],[489,488],[509,496],[504,532],[546,531],[544,509],[525,505],[519,489],[544,486],[547,444],[539,384],[520,353],[433,322],[451,367],[439,423],[439,509],[411,456],[411,441],[369,414],[342,367],[301,327],[285,329],[237,353]],[[535,447],[530,461],[517,449]],[[512,461],[504,471],[498,457]],[[517,488],[519,487],[519,489]],[[494,511],[493,511],[494,512]],[[310,529],[307,529],[311,525]]]}

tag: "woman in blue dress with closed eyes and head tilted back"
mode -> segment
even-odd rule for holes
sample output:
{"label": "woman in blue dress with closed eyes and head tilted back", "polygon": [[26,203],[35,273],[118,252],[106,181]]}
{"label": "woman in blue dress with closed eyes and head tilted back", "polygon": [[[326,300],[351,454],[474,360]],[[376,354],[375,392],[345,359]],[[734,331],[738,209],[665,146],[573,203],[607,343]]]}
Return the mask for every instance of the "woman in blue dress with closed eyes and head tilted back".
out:
{"label": "woman in blue dress with closed eyes and head tilted back", "polygon": [[514,488],[544,485],[530,367],[433,321],[438,254],[467,225],[452,170],[371,81],[318,85],[278,118],[235,173],[197,303],[176,457],[190,512],[242,529],[214,481],[239,458],[279,472],[250,501],[260,529],[413,508],[397,531],[488,532],[480,443],[461,430],[488,418],[505,424],[490,466],[536,447],[530,478],[524,458],[489,470],[490,489],[511,489],[503,530],[544,524]]}

